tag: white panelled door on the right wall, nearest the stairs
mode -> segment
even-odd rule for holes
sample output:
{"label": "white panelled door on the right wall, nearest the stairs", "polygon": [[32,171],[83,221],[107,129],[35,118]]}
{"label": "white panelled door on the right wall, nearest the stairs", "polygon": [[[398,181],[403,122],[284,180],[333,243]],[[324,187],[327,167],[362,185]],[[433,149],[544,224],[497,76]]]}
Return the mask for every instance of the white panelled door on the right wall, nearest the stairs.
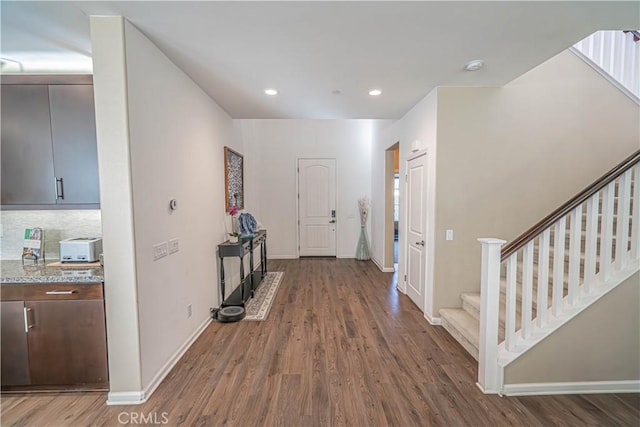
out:
{"label": "white panelled door on the right wall, nearest the stairs", "polygon": [[427,156],[407,167],[407,295],[424,312]]}

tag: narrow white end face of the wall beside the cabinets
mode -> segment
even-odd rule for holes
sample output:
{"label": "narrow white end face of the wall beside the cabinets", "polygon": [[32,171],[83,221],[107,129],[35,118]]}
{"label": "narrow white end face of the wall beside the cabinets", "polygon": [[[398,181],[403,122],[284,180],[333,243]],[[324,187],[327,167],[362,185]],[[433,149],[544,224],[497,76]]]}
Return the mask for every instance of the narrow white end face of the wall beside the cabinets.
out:
{"label": "narrow white end face of the wall beside the cabinets", "polygon": [[92,17],[109,400],[142,396],[124,19]]}

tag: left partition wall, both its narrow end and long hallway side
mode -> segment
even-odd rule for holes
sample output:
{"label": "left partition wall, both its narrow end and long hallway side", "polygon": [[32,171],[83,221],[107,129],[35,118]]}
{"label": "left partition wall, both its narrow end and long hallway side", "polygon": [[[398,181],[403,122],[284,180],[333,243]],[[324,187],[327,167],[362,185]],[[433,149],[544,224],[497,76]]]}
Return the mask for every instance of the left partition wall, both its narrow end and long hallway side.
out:
{"label": "left partition wall, both its narrow end and long hallway side", "polygon": [[[110,99],[96,96],[111,398],[119,392],[152,391],[208,323],[209,309],[218,305],[215,254],[225,240],[226,218],[223,147],[239,147],[231,118],[133,25],[94,17],[92,31],[96,94],[105,95],[105,81],[114,73],[123,86],[115,99],[113,94]],[[116,42],[102,49],[103,38]],[[122,69],[107,64],[124,56]],[[100,126],[113,115],[124,115],[124,120],[111,121],[108,129]],[[130,181],[122,182],[122,175]],[[130,203],[115,203],[118,194]],[[173,212],[168,207],[172,198],[178,200]],[[115,218],[123,215],[131,231],[126,218],[125,227],[115,226]],[[133,244],[122,243],[129,232]],[[179,252],[153,261],[153,245],[173,238],[179,239]],[[111,262],[123,245],[130,249],[133,269],[124,260]],[[113,277],[121,283],[112,283]],[[119,288],[117,293],[108,292],[112,286]],[[124,353],[128,363],[136,363],[130,348],[117,345],[124,334],[115,326],[121,314],[133,315],[138,323],[129,325],[139,334],[137,388],[135,381],[121,378]]]}

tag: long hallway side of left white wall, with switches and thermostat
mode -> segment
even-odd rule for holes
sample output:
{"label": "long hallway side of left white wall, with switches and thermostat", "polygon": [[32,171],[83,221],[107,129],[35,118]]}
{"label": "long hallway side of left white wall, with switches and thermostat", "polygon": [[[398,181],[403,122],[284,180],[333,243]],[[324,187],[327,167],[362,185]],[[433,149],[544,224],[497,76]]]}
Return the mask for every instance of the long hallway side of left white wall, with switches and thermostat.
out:
{"label": "long hallway side of left white wall, with switches and thermostat", "polygon": [[[223,147],[235,144],[231,118],[213,100],[129,23],[125,38],[146,387],[218,305],[215,254],[225,240]],[[178,200],[173,212],[172,198]],[[153,245],[173,238],[180,251],[153,261]]]}

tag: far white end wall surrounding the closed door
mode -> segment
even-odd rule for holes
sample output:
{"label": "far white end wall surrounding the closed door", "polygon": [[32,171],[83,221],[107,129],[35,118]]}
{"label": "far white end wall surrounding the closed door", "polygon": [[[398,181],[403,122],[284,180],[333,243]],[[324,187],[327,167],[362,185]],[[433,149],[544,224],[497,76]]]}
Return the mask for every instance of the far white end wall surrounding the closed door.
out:
{"label": "far white end wall surrounding the closed door", "polygon": [[335,158],[337,255],[353,258],[360,235],[358,199],[371,198],[372,120],[237,120],[245,191],[268,230],[270,258],[296,258],[297,159]]}

